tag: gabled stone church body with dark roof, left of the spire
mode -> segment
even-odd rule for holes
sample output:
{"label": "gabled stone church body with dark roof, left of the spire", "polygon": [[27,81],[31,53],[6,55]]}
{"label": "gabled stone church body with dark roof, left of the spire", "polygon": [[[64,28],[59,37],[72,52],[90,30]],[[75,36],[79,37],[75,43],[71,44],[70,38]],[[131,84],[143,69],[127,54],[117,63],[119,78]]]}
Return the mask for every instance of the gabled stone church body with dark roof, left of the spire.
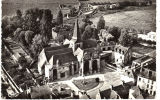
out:
{"label": "gabled stone church body with dark roof, left of the spire", "polygon": [[78,61],[69,45],[44,48],[38,57],[38,71],[50,81],[78,73]]}

